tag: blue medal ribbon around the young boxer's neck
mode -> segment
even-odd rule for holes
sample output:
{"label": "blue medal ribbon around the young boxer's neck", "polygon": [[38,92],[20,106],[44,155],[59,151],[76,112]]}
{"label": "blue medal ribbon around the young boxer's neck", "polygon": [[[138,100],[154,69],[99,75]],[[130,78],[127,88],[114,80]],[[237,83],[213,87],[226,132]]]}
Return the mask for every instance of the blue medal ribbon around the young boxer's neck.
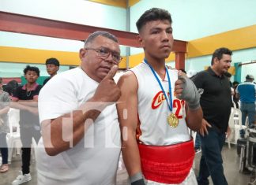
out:
{"label": "blue medal ribbon around the young boxer's neck", "polygon": [[[144,58],[144,61],[145,61],[145,63],[147,64],[147,65],[149,65],[149,62]],[[167,94],[165,93],[165,91],[164,91],[164,87],[163,87],[163,85],[162,85],[162,83],[160,82],[160,80],[158,79],[158,77],[156,76],[156,72],[155,72],[155,70],[152,68],[152,66],[151,65],[149,65],[149,68],[151,69],[151,71],[152,71],[152,73],[153,73],[153,75],[155,76],[155,78],[156,78],[156,80],[157,80],[157,82],[158,82],[158,84],[159,84],[159,86],[161,87],[161,90],[163,91],[163,93],[164,93],[164,97],[165,97],[165,99],[166,99],[166,101],[167,101],[167,103],[168,103],[168,108],[170,109],[170,111],[172,112],[172,98],[171,98],[171,80],[170,80],[170,76],[169,76],[169,72],[168,72],[168,68],[165,66],[165,72],[167,73],[167,75],[168,75],[168,86],[169,86],[169,98],[170,98],[170,104],[169,104],[169,102],[168,102],[168,96],[167,96]]]}

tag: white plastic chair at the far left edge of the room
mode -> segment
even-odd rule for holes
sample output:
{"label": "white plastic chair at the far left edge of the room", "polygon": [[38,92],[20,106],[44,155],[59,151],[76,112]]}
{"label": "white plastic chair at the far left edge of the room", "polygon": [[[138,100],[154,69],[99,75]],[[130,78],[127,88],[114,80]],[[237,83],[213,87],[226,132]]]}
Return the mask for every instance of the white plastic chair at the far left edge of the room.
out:
{"label": "white plastic chair at the far left edge of the room", "polygon": [[[9,133],[6,135],[7,145],[8,145],[8,162],[11,163],[12,157],[16,154],[21,154],[21,135],[20,135],[20,110],[19,109],[9,109]],[[13,131],[16,128],[16,131]],[[13,153],[14,149],[14,153]]]}

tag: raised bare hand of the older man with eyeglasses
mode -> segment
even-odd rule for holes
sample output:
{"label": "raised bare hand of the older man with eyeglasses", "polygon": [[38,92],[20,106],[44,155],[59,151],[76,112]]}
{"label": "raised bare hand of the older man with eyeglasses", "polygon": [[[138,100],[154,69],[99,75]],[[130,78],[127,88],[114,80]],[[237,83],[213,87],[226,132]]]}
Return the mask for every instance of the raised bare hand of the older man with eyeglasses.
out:
{"label": "raised bare hand of the older man with eyeglasses", "polygon": [[120,96],[121,91],[116,85],[113,77],[119,67],[114,65],[111,70],[107,73],[107,76],[100,82],[99,86],[96,89],[96,92],[92,98],[96,102],[116,102]]}

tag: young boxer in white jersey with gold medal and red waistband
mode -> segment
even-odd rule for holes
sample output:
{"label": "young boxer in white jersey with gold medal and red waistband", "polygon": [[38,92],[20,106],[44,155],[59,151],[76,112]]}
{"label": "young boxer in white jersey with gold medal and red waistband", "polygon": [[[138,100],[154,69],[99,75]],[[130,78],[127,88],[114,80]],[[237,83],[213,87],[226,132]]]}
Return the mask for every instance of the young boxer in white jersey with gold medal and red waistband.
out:
{"label": "young boxer in white jersey with gold medal and red waistband", "polygon": [[[132,185],[198,184],[192,170],[202,111],[194,83],[165,66],[173,46],[171,15],[149,9],[137,20],[141,64],[119,79],[122,157]],[[145,177],[145,181],[144,181]]]}

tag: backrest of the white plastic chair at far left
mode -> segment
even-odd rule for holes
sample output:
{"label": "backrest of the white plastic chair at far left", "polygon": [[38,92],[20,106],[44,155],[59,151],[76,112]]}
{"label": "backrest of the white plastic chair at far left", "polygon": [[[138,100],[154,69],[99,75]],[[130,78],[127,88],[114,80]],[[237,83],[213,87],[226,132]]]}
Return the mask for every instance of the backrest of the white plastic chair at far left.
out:
{"label": "backrest of the white plastic chair at far left", "polygon": [[[9,117],[9,133],[13,134],[13,132],[20,132],[20,110],[10,108],[8,112]],[[16,128],[16,131],[14,131]]]}

